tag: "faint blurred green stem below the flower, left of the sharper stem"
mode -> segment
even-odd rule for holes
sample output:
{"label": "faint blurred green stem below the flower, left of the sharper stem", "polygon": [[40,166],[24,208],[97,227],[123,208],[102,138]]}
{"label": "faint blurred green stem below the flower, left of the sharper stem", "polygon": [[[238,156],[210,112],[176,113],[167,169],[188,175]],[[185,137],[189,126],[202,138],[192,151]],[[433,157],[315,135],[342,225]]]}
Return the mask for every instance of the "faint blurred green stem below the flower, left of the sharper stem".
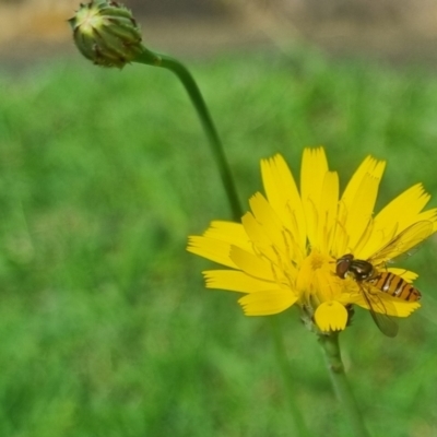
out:
{"label": "faint blurred green stem below the flower, left of the sharper stem", "polygon": [[280,324],[280,320],[277,317],[269,317],[270,320],[270,328],[272,331],[273,343],[274,343],[274,352],[276,355],[276,361],[280,365],[282,378],[285,385],[285,391],[288,401],[288,408],[292,413],[293,422],[294,422],[294,433],[291,433],[293,436],[299,437],[310,437],[311,434],[309,433],[304,417],[300,414],[300,410],[297,406],[295,401],[296,398],[296,388],[294,386],[294,377],[292,374],[292,369],[290,367],[288,357],[285,351],[284,345],[284,336],[282,334],[282,329]]}

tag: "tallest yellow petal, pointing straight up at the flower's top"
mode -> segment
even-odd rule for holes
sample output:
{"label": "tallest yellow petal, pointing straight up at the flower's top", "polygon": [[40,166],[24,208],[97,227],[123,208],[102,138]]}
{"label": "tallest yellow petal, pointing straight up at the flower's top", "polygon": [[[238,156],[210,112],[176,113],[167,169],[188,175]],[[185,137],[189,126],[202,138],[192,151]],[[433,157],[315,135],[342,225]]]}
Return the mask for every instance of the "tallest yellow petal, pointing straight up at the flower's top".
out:
{"label": "tallest yellow petal, pointing straight up at the flower's top", "polygon": [[307,234],[311,246],[317,241],[317,211],[319,210],[321,193],[328,162],[322,147],[305,149],[302,160],[300,193],[307,222]]}

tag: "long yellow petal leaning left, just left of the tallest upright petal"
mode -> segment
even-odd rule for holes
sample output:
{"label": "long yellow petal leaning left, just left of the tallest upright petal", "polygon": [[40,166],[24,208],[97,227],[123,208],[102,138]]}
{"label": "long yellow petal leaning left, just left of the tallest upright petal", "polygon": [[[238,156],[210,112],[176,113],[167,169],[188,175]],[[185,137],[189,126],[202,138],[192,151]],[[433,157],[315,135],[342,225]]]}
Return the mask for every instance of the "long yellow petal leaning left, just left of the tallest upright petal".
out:
{"label": "long yellow petal leaning left, just left of the tallest upright petal", "polygon": [[269,203],[294,239],[306,249],[306,222],[300,196],[293,175],[281,155],[261,161],[262,182]]}

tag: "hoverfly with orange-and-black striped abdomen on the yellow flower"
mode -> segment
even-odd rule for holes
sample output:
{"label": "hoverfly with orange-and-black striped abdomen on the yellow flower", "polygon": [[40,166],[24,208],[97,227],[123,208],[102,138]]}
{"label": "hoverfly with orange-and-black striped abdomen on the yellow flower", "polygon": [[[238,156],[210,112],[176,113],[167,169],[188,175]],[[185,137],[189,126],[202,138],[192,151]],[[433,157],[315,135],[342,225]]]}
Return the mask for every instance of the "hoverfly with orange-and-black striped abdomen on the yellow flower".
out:
{"label": "hoverfly with orange-and-black striped abdomen on the yellow flower", "polygon": [[[394,253],[392,257],[395,258],[398,255],[412,249],[432,234],[432,222],[417,222],[401,232],[368,260],[355,259],[352,253],[343,255],[336,260],[336,275],[341,279],[351,275],[355,280],[376,326],[388,336],[398,334],[398,324],[388,315],[387,307],[390,302],[378,295],[387,293],[402,300],[416,302],[421,298],[421,292],[401,276],[379,270],[379,265],[387,261],[389,255]],[[390,312],[393,312],[393,310]]]}

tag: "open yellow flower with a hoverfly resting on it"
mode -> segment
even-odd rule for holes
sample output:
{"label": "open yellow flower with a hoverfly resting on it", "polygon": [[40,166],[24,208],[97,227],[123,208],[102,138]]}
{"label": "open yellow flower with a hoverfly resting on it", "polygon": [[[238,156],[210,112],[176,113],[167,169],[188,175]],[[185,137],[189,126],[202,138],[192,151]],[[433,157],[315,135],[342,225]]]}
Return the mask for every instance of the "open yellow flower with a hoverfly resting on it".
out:
{"label": "open yellow flower with a hoverfly resting on it", "polygon": [[355,304],[395,335],[391,316],[420,307],[405,297],[417,274],[387,261],[437,231],[437,210],[422,211],[430,197],[417,184],[374,216],[385,167],[366,157],[340,197],[339,176],[329,170],[322,147],[304,151],[300,192],[281,155],[262,160],[265,197],[250,199],[241,223],[215,221],[203,236],[189,238],[190,252],[227,268],[203,272],[206,287],[245,293],[238,303],[247,316],[297,304],[321,332],[343,330]]}

